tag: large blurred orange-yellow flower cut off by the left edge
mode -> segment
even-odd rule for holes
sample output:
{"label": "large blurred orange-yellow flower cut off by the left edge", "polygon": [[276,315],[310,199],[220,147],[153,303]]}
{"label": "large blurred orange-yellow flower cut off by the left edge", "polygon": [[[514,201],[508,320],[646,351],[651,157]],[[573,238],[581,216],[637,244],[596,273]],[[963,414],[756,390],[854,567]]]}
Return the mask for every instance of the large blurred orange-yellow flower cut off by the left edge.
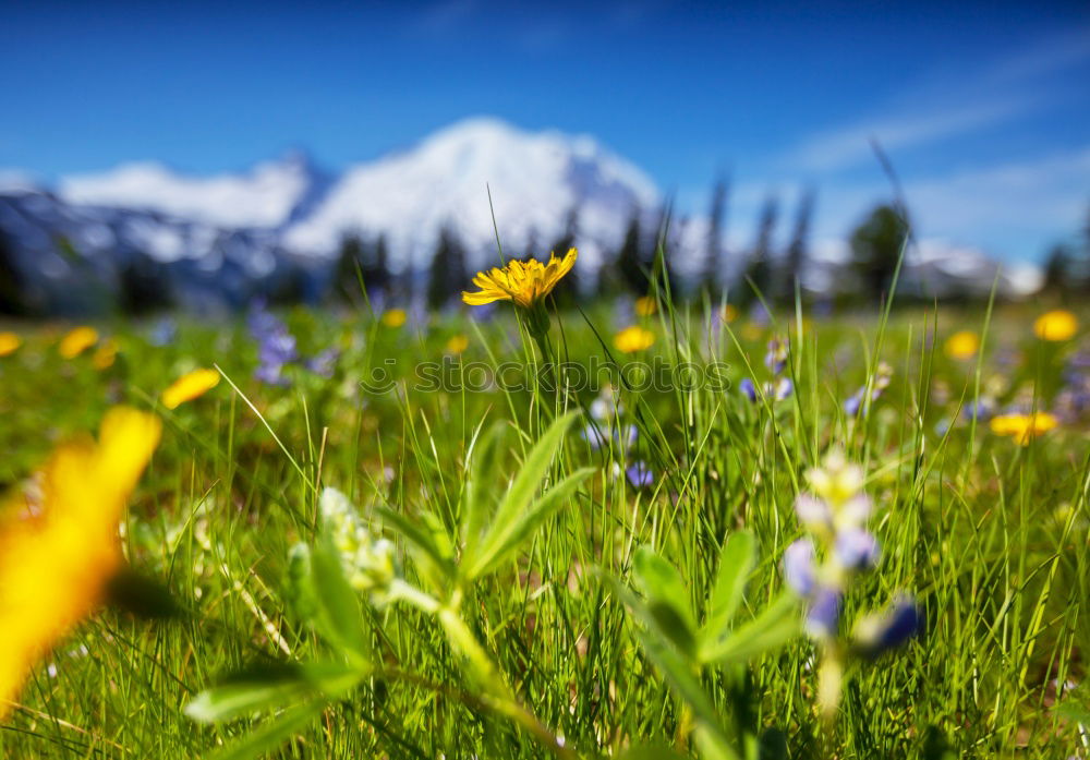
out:
{"label": "large blurred orange-yellow flower cut off by the left edge", "polygon": [[160,432],[158,418],[116,407],[98,443],[60,446],[0,509],[0,717],[34,663],[101,600],[121,564],[118,521]]}

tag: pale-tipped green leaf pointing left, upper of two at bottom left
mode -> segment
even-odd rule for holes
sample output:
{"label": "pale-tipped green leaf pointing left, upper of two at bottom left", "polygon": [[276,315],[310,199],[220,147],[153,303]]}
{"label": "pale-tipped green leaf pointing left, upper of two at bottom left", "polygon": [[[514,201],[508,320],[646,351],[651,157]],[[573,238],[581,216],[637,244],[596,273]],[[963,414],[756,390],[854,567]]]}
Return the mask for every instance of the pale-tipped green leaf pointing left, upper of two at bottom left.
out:
{"label": "pale-tipped green leaf pointing left, upper of two at bottom left", "polygon": [[363,676],[338,663],[255,665],[199,692],[185,705],[185,714],[198,723],[219,723],[274,710],[308,695],[331,697],[351,689]]}

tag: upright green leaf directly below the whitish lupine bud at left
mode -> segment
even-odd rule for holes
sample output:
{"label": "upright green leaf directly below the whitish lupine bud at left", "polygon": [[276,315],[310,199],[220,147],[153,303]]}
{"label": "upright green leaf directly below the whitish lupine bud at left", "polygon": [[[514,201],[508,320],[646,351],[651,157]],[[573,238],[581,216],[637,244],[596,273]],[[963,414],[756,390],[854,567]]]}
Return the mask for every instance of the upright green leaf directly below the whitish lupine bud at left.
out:
{"label": "upright green leaf directly below the whitish lupine bud at left", "polygon": [[328,536],[315,545],[296,544],[289,557],[290,595],[298,614],[356,666],[368,662],[370,646],[360,599],[344,577]]}

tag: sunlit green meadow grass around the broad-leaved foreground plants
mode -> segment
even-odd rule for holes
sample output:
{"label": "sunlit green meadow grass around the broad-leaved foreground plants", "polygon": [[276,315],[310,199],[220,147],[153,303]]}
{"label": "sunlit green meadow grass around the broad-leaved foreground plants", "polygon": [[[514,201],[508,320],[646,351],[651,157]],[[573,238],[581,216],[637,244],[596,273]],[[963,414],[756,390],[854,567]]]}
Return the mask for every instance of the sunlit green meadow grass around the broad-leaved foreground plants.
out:
{"label": "sunlit green meadow grass around the broad-leaved foreground plants", "polygon": [[[865,468],[883,547],[879,569],[852,589],[846,619],[906,590],[922,604],[925,631],[852,665],[832,721],[819,714],[819,654],[802,636],[748,665],[704,667],[698,680],[717,720],[737,721],[742,693],[756,725],[783,732],[791,758],[1085,751],[1055,705],[1057,687],[1083,679],[1090,634],[1086,420],[1020,447],[958,417],[991,391],[1001,402],[1053,403],[1075,345],[1040,343],[1031,316],[997,309],[979,365],[943,355],[942,340],[955,329],[983,330],[983,311],[894,312],[888,321],[782,314],[772,326],[743,317],[723,329],[710,329],[717,317],[695,307],[643,318],[657,335],[649,354],[670,366],[726,362],[734,383],[764,381],[766,340],[789,337],[796,393],[752,405],[735,388],[620,390],[622,420],[640,431],[627,459],[620,447],[593,450],[577,434],[585,413],[574,422],[545,480],[583,467],[593,473],[501,567],[457,583],[461,618],[511,703],[532,713],[541,732],[497,707],[487,678],[451,649],[435,615],[360,596],[374,671],[304,714],[270,756],[596,758],[637,746],[697,753],[692,705],[641,647],[643,624],[615,582],[640,588],[633,557],[650,546],[677,568],[686,601],[700,611],[720,546],[747,530],[759,559],[735,622],[744,625],[779,595],[780,557],[801,534],[795,496],[806,471],[835,447]],[[183,710],[255,663],[338,658],[288,602],[291,547],[319,541],[320,487],[348,494],[373,531],[396,541],[405,580],[427,588],[434,579],[419,552],[379,510],[415,526],[434,515],[457,558],[477,431],[506,425],[500,454],[471,488],[497,498],[550,421],[585,410],[596,396],[413,389],[415,365],[437,361],[456,334],[470,338],[463,366],[524,365],[534,342],[509,309],[486,323],[459,314],[401,328],[366,314],[286,317],[304,353],[342,349],[334,378],[300,370],[291,388],[258,384],[256,349],[235,324],[183,323],[162,348],[148,345],[140,326],[105,325],[121,343],[106,371],[87,355],[61,360],[56,331],[44,328],[23,329],[26,343],[0,359],[0,481],[9,486],[58,441],[95,430],[113,403],[162,417],[164,441],[131,502],[124,545],[134,568],[165,583],[184,610],[157,622],[105,610],[80,626],[25,685],[0,731],[0,756],[192,758],[272,724],[276,710],[214,725]],[[558,357],[586,364],[608,348],[623,364],[631,358],[613,349],[615,327],[607,306],[585,321],[565,311],[553,317],[549,339]],[[1010,351],[1014,362],[1005,359]],[[388,394],[362,393],[359,381],[387,359],[404,382]],[[894,369],[892,385],[863,417],[849,418],[844,399],[880,360]],[[214,364],[230,384],[174,412],[157,405],[174,377]],[[637,490],[614,474],[615,465],[623,470],[635,459],[654,470],[653,486]],[[550,747],[550,736],[562,737],[562,748]]]}

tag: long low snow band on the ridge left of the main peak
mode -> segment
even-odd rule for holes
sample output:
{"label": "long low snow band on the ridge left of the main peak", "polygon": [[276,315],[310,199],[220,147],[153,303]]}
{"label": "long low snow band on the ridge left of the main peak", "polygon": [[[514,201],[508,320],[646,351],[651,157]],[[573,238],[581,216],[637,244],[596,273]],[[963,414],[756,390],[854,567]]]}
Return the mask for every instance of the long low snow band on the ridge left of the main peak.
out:
{"label": "long low snow band on the ridge left of the main peak", "polygon": [[58,194],[77,205],[159,212],[223,228],[278,228],[320,180],[291,154],[244,174],[185,177],[156,162],[125,164],[101,174],[63,178]]}

